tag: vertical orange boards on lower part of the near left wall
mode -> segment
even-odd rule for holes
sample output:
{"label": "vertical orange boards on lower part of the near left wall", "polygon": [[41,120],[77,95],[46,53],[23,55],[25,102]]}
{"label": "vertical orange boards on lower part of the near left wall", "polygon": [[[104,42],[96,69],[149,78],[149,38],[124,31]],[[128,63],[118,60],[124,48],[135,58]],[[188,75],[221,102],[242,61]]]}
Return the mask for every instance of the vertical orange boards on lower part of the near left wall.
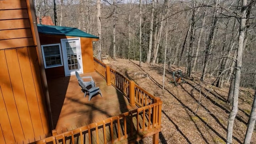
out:
{"label": "vertical orange boards on lower part of the near left wall", "polygon": [[0,50],[0,124],[6,143],[49,132],[35,54],[35,47]]}

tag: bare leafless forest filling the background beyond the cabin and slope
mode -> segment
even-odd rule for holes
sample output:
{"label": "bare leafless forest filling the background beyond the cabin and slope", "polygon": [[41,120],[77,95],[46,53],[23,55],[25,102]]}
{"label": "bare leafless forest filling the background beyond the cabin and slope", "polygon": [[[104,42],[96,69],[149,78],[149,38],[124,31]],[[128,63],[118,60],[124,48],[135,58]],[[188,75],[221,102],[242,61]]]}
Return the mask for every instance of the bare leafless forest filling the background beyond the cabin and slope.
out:
{"label": "bare leafless forest filling the background beyond the cabin and slope", "polygon": [[39,23],[51,16],[55,25],[99,36],[94,43],[97,58],[175,65],[185,67],[187,77],[199,72],[202,82],[214,78],[212,85],[219,88],[231,83],[228,102],[234,106],[228,130],[237,113],[237,87],[256,88],[255,4],[255,0],[34,0]]}

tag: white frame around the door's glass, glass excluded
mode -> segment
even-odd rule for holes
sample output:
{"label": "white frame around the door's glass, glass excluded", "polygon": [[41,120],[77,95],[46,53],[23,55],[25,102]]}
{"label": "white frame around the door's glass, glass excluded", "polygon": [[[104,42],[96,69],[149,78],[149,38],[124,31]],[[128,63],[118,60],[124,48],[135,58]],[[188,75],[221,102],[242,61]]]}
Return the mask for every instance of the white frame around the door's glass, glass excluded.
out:
{"label": "white frame around the door's glass, glass excluded", "polygon": [[78,64],[78,68],[80,66],[80,69],[81,69],[81,72],[78,72],[78,73],[82,74],[84,72],[84,70],[83,70],[82,50],[81,50],[80,38],[62,38],[62,39],[60,39],[60,43],[61,43],[61,47],[62,47],[62,58],[63,58],[65,76],[70,76],[70,75],[75,74],[75,73],[74,74],[68,73],[68,60],[66,58],[67,51],[66,51],[66,44],[64,42],[69,41],[69,40],[78,40],[78,47],[76,48],[76,53],[77,54],[78,54],[78,52],[80,53],[80,62]]}

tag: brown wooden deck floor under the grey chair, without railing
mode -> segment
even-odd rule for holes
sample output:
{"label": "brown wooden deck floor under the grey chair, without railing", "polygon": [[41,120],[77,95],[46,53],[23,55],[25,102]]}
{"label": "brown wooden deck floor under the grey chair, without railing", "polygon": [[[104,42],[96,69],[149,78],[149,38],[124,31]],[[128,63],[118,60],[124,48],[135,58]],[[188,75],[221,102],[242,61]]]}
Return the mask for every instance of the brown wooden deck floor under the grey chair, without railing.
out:
{"label": "brown wooden deck floor under the grey chair, without railing", "polygon": [[107,86],[106,80],[97,72],[80,76],[92,76],[103,97],[98,94],[90,101],[88,95],[84,98],[76,76],[47,80],[54,129],[58,134],[138,108],[131,107],[128,99],[114,86]]}

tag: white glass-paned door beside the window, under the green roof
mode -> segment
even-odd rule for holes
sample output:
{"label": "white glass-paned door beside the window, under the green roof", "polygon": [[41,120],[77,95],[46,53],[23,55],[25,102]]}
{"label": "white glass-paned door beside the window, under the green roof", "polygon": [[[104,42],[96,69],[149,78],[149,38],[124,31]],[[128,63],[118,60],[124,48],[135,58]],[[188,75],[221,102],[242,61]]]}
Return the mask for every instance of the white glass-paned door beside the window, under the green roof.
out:
{"label": "white glass-paned door beside the window, under the green roof", "polygon": [[83,72],[80,38],[61,39],[65,75]]}

